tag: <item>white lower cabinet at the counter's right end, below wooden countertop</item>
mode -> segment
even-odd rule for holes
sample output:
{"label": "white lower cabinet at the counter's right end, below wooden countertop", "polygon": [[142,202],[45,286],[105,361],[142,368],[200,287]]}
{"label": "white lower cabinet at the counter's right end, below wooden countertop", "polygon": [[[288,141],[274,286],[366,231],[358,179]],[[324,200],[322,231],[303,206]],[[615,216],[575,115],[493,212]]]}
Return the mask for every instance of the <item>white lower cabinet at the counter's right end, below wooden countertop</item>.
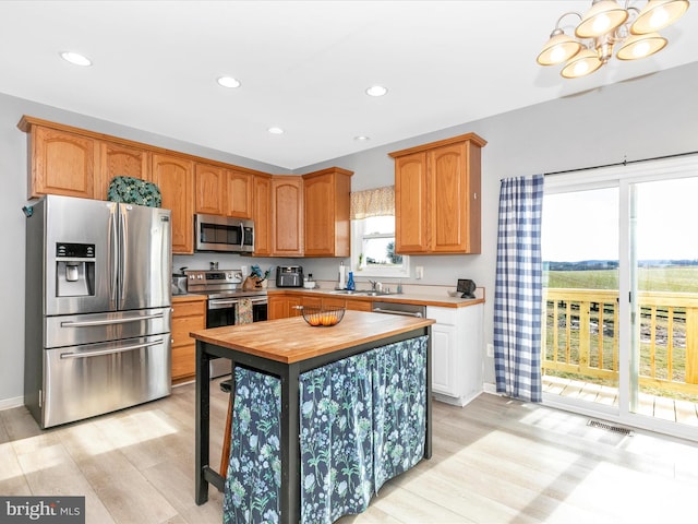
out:
{"label": "white lower cabinet at the counter's right end, below wooden countertop", "polygon": [[482,303],[429,306],[432,325],[432,392],[437,401],[465,406],[482,392]]}

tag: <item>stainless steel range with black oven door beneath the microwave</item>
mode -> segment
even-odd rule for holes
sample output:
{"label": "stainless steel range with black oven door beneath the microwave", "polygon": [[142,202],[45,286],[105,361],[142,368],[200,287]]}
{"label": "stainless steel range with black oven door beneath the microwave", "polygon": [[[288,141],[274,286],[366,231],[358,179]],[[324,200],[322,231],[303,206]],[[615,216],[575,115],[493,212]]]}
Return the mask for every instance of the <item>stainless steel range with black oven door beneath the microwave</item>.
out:
{"label": "stainless steel range with black oven door beneath the microwave", "polygon": [[[244,277],[240,270],[185,271],[189,293],[206,295],[206,327],[220,327],[238,323],[240,305],[249,299],[252,307],[252,321],[267,319],[266,290],[242,289]],[[210,377],[230,374],[230,360],[216,358],[210,361]]]}

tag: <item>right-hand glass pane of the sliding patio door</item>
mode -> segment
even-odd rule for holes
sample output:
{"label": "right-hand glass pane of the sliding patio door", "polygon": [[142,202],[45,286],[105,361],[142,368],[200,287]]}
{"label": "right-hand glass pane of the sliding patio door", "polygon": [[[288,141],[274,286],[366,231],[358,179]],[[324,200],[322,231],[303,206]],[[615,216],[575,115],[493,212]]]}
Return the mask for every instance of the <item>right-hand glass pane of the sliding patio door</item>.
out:
{"label": "right-hand glass pane of the sliding patio door", "polygon": [[628,190],[629,410],[698,426],[698,178]]}

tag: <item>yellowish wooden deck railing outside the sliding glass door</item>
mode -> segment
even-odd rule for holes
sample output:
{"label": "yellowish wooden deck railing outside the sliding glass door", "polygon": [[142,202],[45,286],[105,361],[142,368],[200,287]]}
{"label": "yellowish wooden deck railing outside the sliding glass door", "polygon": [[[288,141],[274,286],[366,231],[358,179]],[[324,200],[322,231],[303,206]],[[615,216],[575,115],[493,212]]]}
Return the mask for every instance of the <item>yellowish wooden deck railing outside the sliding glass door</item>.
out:
{"label": "yellowish wooden deck railing outside the sliding glass door", "polygon": [[[639,384],[698,395],[698,294],[640,291]],[[617,384],[618,291],[543,289],[543,371]]]}

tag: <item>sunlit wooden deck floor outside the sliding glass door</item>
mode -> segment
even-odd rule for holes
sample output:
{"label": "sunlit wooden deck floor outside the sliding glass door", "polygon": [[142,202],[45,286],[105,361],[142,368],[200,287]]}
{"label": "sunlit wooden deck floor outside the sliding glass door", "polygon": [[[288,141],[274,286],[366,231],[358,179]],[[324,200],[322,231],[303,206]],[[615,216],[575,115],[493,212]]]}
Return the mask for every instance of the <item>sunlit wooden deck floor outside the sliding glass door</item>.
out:
{"label": "sunlit wooden deck floor outside the sliding glass door", "polygon": [[[543,376],[543,391],[609,406],[618,405],[617,388],[592,384],[581,380]],[[696,403],[646,393],[640,393],[639,398],[640,407],[637,413],[640,415],[698,427],[698,404]]]}

